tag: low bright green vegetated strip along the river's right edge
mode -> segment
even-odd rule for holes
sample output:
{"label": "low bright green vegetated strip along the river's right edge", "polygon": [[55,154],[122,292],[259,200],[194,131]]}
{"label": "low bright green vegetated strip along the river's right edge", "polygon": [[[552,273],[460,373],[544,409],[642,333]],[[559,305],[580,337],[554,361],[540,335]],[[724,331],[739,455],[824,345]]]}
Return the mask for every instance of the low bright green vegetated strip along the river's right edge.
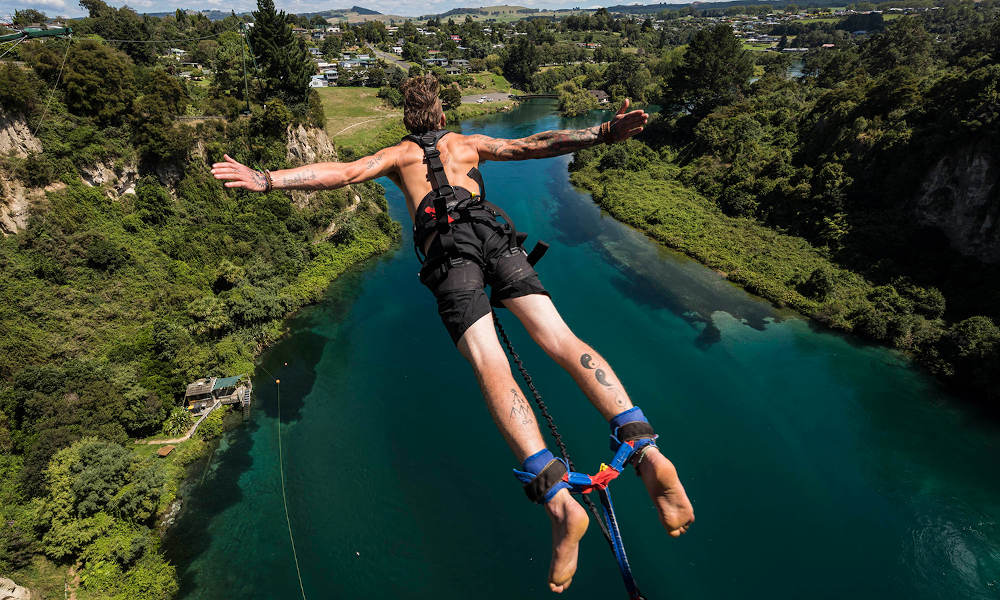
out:
{"label": "low bright green vegetated strip along the river's right edge", "polygon": [[669,149],[656,153],[632,140],[582,151],[570,169],[573,184],[611,216],[747,291],[831,329],[900,350],[970,396],[988,401],[995,394],[974,375],[988,368],[996,327],[985,317],[947,322],[937,289],[904,276],[877,284],[804,238],[724,214],[680,180]]}

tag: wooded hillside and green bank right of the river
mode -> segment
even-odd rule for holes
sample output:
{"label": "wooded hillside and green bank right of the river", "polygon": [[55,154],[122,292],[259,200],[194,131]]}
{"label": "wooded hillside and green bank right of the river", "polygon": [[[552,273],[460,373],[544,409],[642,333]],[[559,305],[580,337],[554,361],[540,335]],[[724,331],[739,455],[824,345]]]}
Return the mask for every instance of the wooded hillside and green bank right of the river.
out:
{"label": "wooded hillside and green bank right of the river", "polygon": [[[616,216],[752,291],[996,402],[1000,267],[960,254],[913,205],[942,159],[978,153],[997,168],[998,16],[993,2],[953,3],[812,51],[799,80],[766,61],[753,83],[729,27],[705,29],[659,81],[663,118],[641,142],[580,153],[575,176]],[[707,223],[746,237],[719,241],[724,228],[708,235]]]}

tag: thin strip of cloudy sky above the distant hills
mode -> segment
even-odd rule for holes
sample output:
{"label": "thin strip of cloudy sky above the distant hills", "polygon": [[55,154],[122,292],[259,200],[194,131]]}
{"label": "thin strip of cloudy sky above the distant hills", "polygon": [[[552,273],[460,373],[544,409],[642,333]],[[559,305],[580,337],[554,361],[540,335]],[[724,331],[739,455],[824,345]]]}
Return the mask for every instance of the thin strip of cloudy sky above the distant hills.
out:
{"label": "thin strip of cloudy sky above the distant hills", "polygon": [[[681,2],[683,0],[665,1]],[[612,1],[606,2],[603,6],[626,3],[628,2]],[[640,4],[652,3],[655,2],[640,2]],[[192,5],[178,4],[178,0],[111,1],[108,4],[112,6],[127,4],[139,13],[166,12],[176,8],[195,8]],[[318,12],[322,10],[350,8],[357,5],[377,10],[383,14],[403,16],[442,13],[460,6],[492,6],[497,4],[511,4],[539,9],[598,8],[602,6],[601,4],[594,4],[593,0],[578,0],[575,3],[573,0],[343,0],[341,2],[330,2],[329,0],[275,0],[275,6],[279,10],[289,13]],[[240,13],[255,9],[257,2],[256,0],[199,0],[196,7],[198,10],[222,10],[226,12],[235,10],[237,13]],[[25,8],[34,8],[49,16],[82,17],[85,15],[84,10],[78,4],[78,0],[0,0],[0,20],[6,21],[8,16],[12,15],[15,10]]]}

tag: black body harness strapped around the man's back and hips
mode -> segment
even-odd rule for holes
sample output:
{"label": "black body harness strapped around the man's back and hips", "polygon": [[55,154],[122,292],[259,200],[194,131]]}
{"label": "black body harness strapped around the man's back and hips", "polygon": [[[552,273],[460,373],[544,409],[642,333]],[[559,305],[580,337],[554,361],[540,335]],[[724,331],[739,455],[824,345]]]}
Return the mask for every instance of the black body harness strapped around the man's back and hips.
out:
{"label": "black body harness strapped around the man's back and hips", "polygon": [[[481,222],[492,227],[499,226],[507,236],[511,252],[524,252],[524,240],[527,234],[519,233],[507,213],[502,208],[486,201],[486,185],[483,182],[483,175],[479,169],[472,167],[468,176],[479,185],[479,194],[473,194],[461,186],[452,186],[448,183],[448,176],[444,172],[444,164],[441,162],[441,152],[437,149],[437,143],[445,135],[451,133],[447,129],[428,131],[423,134],[411,134],[403,138],[410,140],[424,151],[424,162],[427,163],[428,179],[431,183],[431,191],[420,201],[417,212],[413,216],[413,245],[417,253],[417,258],[421,263],[434,266],[433,262],[447,263],[448,267],[454,267],[465,260],[455,245],[455,237],[452,232],[453,223]],[[504,220],[501,224],[497,217]],[[421,256],[424,244],[431,233],[437,232],[441,241],[441,249],[444,251],[441,256],[427,262],[426,256]],[[528,254],[528,262],[534,265],[549,245],[539,241]]]}

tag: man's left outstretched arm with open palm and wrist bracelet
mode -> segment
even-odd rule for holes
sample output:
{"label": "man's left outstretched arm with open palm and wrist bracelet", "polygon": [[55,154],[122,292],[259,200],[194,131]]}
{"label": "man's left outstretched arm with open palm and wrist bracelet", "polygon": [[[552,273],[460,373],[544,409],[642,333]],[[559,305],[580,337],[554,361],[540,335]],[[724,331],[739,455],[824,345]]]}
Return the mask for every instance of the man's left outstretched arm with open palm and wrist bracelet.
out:
{"label": "man's left outstretched arm with open palm and wrist bracelet", "polygon": [[[349,163],[314,163],[280,171],[255,171],[223,155],[225,162],[212,165],[212,175],[226,182],[226,187],[252,192],[270,189],[333,190],[351,183],[361,183],[388,175],[396,168],[396,148],[385,148],[371,156]],[[270,182],[268,181],[270,178]]]}

